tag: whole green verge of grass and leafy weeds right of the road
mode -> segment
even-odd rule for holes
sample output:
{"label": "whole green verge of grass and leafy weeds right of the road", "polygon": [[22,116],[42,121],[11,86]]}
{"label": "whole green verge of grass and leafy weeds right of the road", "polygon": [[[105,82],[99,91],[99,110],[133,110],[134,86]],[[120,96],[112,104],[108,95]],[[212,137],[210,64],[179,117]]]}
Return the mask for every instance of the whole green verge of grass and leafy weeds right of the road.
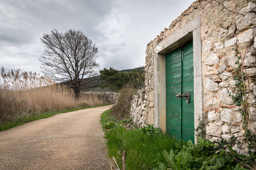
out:
{"label": "whole green verge of grass and leafy weeds right of the road", "polygon": [[238,154],[224,141],[197,138],[197,144],[180,142],[153,125],[128,130],[125,127],[129,121],[118,121],[111,115],[110,110],[102,113],[101,124],[115,169],[122,168],[124,150],[126,169],[256,169],[255,155]]}

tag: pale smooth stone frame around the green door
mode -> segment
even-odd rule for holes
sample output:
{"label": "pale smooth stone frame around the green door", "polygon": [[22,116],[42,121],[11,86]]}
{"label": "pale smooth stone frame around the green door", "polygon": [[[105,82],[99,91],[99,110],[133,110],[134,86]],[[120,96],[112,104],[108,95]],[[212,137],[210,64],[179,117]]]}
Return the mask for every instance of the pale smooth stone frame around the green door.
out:
{"label": "pale smooth stone frame around the green door", "polygon": [[[187,23],[170,37],[155,47],[154,67],[154,122],[155,128],[166,131],[166,54],[193,40],[193,67],[194,67],[194,126],[199,126],[203,115],[202,90],[202,59],[201,59],[201,17]],[[196,143],[196,134],[195,134]]]}

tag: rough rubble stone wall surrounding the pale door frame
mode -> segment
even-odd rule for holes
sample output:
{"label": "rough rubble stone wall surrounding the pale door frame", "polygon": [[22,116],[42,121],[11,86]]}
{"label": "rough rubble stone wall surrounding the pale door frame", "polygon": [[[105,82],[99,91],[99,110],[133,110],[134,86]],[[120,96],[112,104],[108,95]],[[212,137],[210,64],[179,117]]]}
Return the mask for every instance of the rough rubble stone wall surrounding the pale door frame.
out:
{"label": "rough rubble stone wall surrounding the pale door frame", "polygon": [[[156,79],[159,73],[159,70],[157,70],[158,63],[156,63],[159,51],[158,45],[170,39],[174,33],[178,32],[197,16],[200,16],[200,64],[201,79],[203,81],[201,121],[205,124],[207,139],[218,141],[221,138],[229,139],[234,135],[238,140],[242,140],[244,133],[242,128],[243,117],[230,96],[230,94],[236,94],[237,92],[236,82],[233,80],[234,70],[238,67],[235,57],[237,39],[238,50],[242,56],[245,56],[243,66],[249,75],[249,81],[246,81],[246,86],[250,105],[250,125],[255,133],[256,3],[255,1],[240,0],[221,0],[220,2],[222,5],[217,1],[193,2],[187,10],[171,23],[170,27],[164,28],[164,31],[147,45],[146,88],[143,95],[134,96],[133,105],[137,105],[140,109],[133,108],[131,111],[131,114],[138,113],[138,115],[143,116],[133,116],[135,122],[143,122],[143,124],[157,123],[155,121],[155,94],[159,91],[156,87],[159,84]],[[235,12],[243,14],[244,17]],[[143,96],[143,99],[138,96]],[[146,107],[144,104],[146,104]],[[143,109],[141,109],[141,106],[143,106]]]}

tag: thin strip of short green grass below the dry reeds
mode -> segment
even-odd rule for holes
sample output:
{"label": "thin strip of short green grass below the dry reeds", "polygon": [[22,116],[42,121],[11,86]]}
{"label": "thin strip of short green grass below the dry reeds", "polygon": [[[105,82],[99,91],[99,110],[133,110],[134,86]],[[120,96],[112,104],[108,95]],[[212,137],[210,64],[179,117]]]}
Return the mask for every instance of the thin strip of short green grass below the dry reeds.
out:
{"label": "thin strip of short green grass below the dry reeds", "polygon": [[48,117],[51,117],[51,116],[53,116],[55,114],[59,114],[59,113],[68,113],[68,112],[73,112],[73,111],[79,111],[81,109],[102,107],[105,105],[111,105],[111,103],[110,104],[102,104],[102,105],[98,105],[98,106],[91,106],[88,104],[84,104],[83,107],[81,107],[81,108],[64,109],[61,111],[52,111],[52,112],[42,112],[42,113],[33,114],[33,115],[28,114],[27,116],[19,117],[18,120],[16,120],[15,122],[5,122],[5,124],[3,124],[3,123],[0,124],[0,131],[11,129],[11,128],[14,128],[15,126],[26,124],[27,122],[39,120],[42,118],[48,118]]}

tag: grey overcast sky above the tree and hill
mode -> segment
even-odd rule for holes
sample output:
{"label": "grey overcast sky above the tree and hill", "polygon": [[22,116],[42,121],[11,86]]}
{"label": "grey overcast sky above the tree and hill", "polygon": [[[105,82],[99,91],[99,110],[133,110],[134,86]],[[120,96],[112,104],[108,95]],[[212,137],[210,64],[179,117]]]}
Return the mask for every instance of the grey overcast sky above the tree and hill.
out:
{"label": "grey overcast sky above the tree and hill", "polygon": [[44,33],[82,31],[100,69],[145,64],[147,44],[194,0],[0,0],[0,67],[40,71]]}

